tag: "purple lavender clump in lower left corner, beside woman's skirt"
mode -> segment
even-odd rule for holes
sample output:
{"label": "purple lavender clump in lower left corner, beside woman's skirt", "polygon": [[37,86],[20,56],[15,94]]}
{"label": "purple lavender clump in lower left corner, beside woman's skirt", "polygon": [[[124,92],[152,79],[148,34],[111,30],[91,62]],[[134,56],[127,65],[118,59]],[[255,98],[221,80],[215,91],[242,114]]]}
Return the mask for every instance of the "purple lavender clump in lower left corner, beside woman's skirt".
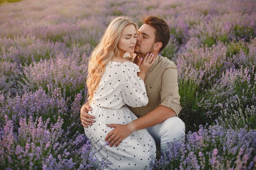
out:
{"label": "purple lavender clump in lower left corner, beside woman's skirt", "polygon": [[[92,168],[96,159],[85,135],[78,135],[74,141],[69,139],[67,142],[62,129],[63,119],[58,117],[55,124],[49,124],[49,121],[42,121],[42,117],[36,117],[35,121],[29,117],[28,122],[21,119],[16,133],[12,121],[5,116],[6,125],[0,137],[0,166],[31,170]],[[108,164],[102,160],[99,169],[106,168]]]}

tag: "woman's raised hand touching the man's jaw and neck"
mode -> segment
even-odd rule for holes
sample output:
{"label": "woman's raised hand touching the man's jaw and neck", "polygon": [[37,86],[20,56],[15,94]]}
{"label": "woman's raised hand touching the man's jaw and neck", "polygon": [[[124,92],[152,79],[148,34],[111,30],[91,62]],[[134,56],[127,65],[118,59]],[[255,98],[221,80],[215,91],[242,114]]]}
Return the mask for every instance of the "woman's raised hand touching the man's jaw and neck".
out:
{"label": "woman's raised hand touching the man's jaw and neck", "polygon": [[146,74],[146,72],[149,70],[149,68],[153,65],[155,61],[154,54],[148,53],[143,60],[141,59],[142,58],[140,58],[137,65],[139,66],[140,72]]}

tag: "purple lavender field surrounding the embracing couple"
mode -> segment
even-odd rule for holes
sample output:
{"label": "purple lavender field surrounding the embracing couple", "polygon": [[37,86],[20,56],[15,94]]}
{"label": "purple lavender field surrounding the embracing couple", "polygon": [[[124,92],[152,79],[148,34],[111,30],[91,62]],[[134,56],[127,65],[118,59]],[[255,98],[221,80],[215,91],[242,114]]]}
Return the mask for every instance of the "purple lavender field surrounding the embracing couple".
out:
{"label": "purple lavender field surrounding the embracing couple", "polygon": [[[15,0],[14,0],[15,1]],[[256,170],[255,0],[22,0],[0,4],[0,170],[94,170],[80,108],[112,18],[166,20],[183,143],[154,170]],[[105,160],[98,170],[108,167]]]}

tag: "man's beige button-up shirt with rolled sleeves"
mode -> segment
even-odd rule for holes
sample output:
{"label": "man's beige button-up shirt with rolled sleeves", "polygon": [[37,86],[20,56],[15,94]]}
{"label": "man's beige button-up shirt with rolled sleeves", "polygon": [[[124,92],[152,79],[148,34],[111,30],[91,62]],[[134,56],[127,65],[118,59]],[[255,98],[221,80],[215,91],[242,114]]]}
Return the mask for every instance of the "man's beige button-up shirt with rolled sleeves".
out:
{"label": "man's beige button-up shirt with rolled sleeves", "polygon": [[[137,55],[133,57],[126,55],[124,58],[135,63]],[[148,114],[160,105],[171,108],[178,116],[182,107],[180,106],[177,67],[172,61],[158,55],[146,73],[145,86],[148,104],[137,108],[128,106],[137,117]]]}

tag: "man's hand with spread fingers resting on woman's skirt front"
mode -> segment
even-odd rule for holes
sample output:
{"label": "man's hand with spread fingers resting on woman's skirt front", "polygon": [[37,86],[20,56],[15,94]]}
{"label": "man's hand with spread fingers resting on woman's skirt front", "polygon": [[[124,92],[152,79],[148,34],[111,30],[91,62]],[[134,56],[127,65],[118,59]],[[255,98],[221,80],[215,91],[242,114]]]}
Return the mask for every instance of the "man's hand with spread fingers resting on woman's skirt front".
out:
{"label": "man's hand with spread fingers resting on woman's skirt front", "polygon": [[110,128],[114,128],[111,130],[105,138],[105,141],[108,141],[109,146],[118,146],[122,140],[128,137],[132,132],[132,124],[108,124]]}

